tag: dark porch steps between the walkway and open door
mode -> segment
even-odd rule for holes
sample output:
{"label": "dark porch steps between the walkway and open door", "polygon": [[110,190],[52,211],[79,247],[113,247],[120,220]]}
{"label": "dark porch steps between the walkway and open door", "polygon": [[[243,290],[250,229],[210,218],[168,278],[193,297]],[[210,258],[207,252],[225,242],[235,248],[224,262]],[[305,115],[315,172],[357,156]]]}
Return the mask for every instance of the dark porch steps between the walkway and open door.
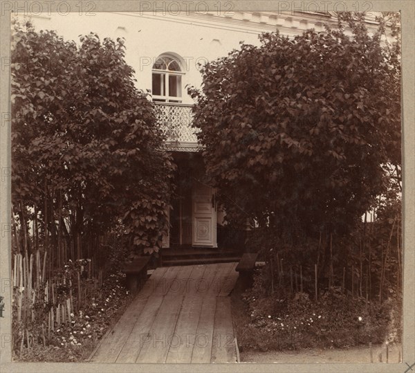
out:
{"label": "dark porch steps between the walkway and open door", "polygon": [[241,254],[235,251],[218,251],[206,249],[163,249],[161,261],[163,266],[190,266],[196,264],[214,264],[239,262]]}

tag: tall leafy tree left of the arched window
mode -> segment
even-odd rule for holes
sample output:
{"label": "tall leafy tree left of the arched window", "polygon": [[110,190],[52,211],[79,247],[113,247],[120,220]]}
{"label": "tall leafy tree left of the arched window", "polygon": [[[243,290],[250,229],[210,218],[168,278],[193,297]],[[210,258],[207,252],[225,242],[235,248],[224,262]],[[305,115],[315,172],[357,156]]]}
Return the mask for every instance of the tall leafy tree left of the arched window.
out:
{"label": "tall leafy tree left of the arched window", "polygon": [[14,25],[12,205],[23,232],[31,219],[57,247],[57,264],[88,255],[120,219],[139,248],[161,244],[173,165],[124,50],[122,39],[91,33],[77,46]]}

